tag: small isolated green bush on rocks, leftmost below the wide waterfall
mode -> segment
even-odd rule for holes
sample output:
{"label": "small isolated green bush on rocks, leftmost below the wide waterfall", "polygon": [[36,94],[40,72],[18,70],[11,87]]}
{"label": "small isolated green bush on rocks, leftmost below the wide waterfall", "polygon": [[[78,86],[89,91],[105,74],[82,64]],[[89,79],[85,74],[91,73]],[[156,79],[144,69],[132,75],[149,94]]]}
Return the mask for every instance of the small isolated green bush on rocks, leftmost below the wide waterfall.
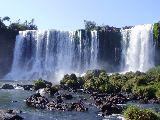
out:
{"label": "small isolated green bush on rocks, leftmost below the wide waterfall", "polygon": [[35,90],[38,90],[40,88],[46,88],[46,87],[49,88],[50,86],[52,86],[51,82],[48,82],[46,80],[42,80],[41,78],[39,78],[33,82],[33,87]]}

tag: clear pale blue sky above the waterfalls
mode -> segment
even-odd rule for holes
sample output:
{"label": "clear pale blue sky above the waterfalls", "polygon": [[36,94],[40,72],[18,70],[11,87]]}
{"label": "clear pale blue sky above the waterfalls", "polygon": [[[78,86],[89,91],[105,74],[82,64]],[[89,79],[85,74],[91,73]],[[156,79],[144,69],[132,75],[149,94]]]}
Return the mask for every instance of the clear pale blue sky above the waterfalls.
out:
{"label": "clear pale blue sky above the waterfalls", "polygon": [[160,0],[0,0],[0,17],[20,23],[34,18],[39,30],[84,29],[84,20],[121,28],[160,21],[159,5]]}

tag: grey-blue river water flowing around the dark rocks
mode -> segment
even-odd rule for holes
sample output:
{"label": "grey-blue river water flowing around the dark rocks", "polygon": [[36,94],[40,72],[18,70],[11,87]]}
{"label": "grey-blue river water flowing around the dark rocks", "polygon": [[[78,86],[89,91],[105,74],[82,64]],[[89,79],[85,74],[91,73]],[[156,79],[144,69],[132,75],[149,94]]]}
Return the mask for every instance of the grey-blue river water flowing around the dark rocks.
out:
{"label": "grey-blue river water flowing around the dark rocks", "polygon": [[[32,81],[1,81],[0,87],[3,84],[32,84]],[[60,91],[62,93],[64,91]],[[77,112],[77,111],[50,111],[50,110],[42,110],[36,109],[29,106],[26,106],[23,101],[25,98],[30,97],[34,94],[35,91],[27,91],[22,89],[0,89],[0,110],[1,109],[11,109],[11,110],[21,110],[22,113],[19,115],[23,117],[25,120],[99,120],[104,119],[103,117],[98,116],[99,109],[95,106],[84,105],[88,108],[88,111],[85,112]],[[85,102],[93,102],[93,100],[89,99],[89,94],[73,94],[73,99],[69,101],[76,101],[78,99],[86,98]],[[55,99],[55,96],[46,95],[49,101]],[[17,102],[12,102],[17,101]],[[68,100],[64,100],[67,102]],[[127,102],[127,105],[133,104],[132,102]],[[160,105],[158,104],[138,104],[135,105],[141,108],[152,108],[152,109],[160,109]]]}

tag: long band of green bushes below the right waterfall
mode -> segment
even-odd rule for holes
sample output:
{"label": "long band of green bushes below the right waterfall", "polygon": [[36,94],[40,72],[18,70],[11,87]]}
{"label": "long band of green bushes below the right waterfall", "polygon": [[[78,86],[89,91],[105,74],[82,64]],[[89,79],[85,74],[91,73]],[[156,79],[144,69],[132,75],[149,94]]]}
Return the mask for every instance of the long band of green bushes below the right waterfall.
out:
{"label": "long band of green bushes below the right waterfall", "polygon": [[146,73],[114,73],[110,76],[103,69],[88,70],[84,77],[75,74],[64,75],[60,81],[66,87],[79,87],[101,93],[132,92],[136,96],[160,99],[160,66],[149,69]]}

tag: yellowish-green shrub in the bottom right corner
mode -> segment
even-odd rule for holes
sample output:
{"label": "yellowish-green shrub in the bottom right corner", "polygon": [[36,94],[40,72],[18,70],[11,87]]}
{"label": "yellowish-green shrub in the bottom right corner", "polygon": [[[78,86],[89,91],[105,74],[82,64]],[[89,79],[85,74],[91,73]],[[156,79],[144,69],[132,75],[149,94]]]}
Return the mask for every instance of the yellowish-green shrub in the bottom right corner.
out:
{"label": "yellowish-green shrub in the bottom right corner", "polygon": [[141,109],[134,105],[130,105],[123,112],[126,120],[159,120],[160,115],[151,109]]}

